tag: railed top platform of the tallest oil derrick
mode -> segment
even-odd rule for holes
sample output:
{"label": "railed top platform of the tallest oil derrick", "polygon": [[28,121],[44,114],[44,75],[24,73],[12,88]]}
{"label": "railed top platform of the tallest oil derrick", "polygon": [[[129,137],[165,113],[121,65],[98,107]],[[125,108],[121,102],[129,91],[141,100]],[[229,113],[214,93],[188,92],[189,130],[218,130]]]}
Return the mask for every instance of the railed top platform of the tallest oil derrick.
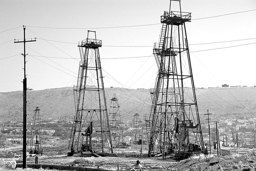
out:
{"label": "railed top platform of the tallest oil derrick", "polygon": [[161,23],[180,25],[185,22],[191,22],[191,12],[165,11],[161,16]]}

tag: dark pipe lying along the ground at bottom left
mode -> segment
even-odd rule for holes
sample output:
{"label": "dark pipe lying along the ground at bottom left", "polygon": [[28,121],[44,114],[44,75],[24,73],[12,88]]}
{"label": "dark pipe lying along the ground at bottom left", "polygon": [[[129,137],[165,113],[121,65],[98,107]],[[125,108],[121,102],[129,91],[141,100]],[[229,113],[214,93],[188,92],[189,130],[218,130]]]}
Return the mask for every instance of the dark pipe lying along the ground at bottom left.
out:
{"label": "dark pipe lying along the ground at bottom left", "polygon": [[[22,167],[22,164],[16,164],[16,167]],[[113,170],[106,170],[102,168],[64,166],[64,165],[57,165],[57,164],[27,164],[27,167],[36,168],[36,169],[48,168],[48,169],[56,169],[56,170],[76,170],[76,171],[113,171]]]}

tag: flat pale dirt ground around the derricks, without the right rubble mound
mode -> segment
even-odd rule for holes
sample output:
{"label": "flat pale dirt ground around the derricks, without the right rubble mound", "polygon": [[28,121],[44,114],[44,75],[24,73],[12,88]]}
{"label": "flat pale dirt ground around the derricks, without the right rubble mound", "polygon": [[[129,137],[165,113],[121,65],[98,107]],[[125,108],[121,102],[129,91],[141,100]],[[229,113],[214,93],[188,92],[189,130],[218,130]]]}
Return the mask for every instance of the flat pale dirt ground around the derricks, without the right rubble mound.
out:
{"label": "flat pale dirt ground around the derricks, without the right rubble mound", "polygon": [[[136,164],[136,161],[139,160],[140,162],[143,161],[144,168],[143,170],[153,171],[153,170],[175,170],[174,167],[182,164],[176,160],[167,156],[166,159],[162,157],[80,157],[79,155],[74,155],[72,157],[68,157],[66,154],[64,155],[57,155],[60,152],[65,153],[68,151],[65,147],[60,146],[46,146],[44,148],[48,150],[50,155],[43,155],[39,156],[39,164],[59,164],[59,165],[66,165],[66,166],[79,166],[79,167],[90,167],[90,168],[103,168],[108,170],[133,170],[133,165]],[[222,148],[223,149],[223,148]],[[225,148],[230,150],[231,155],[234,155],[234,148]],[[140,149],[138,148],[138,151]],[[57,151],[57,152],[56,152]],[[131,154],[137,153],[137,149],[130,147],[130,148],[120,148],[114,149],[114,151],[119,152],[120,156],[130,156]],[[212,152],[216,152],[216,150],[212,149]],[[147,148],[143,148],[143,153],[147,153]],[[253,149],[245,149],[245,148],[238,148],[236,149],[236,153],[240,155],[243,154],[252,154]],[[15,158],[17,163],[22,163],[22,146],[16,145],[15,147],[1,147],[0,148],[0,158]],[[35,163],[35,156],[27,158],[27,163]],[[28,169],[30,170],[30,169]]]}

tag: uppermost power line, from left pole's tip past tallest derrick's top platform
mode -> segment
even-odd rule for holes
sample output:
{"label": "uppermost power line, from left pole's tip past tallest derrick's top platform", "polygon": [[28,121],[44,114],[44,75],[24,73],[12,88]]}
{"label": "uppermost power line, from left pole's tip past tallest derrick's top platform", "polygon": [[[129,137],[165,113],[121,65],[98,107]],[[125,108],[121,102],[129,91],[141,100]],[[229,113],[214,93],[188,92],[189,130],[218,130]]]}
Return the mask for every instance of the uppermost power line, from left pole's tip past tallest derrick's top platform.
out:
{"label": "uppermost power line, from left pole's tip past tallest derrick's top platform", "polygon": [[[227,13],[223,15],[217,15],[217,16],[211,16],[211,17],[205,17],[205,18],[197,18],[192,20],[201,20],[201,19],[208,19],[208,18],[215,18],[215,17],[221,17],[226,15],[232,15],[242,12],[249,12],[249,11],[256,11],[256,9],[248,10],[248,11],[240,11],[240,12],[234,12],[234,13]],[[42,26],[26,26],[26,27],[36,27],[36,28],[53,28],[53,29],[100,29],[100,28],[124,28],[124,27],[140,27],[140,26],[153,26],[158,25],[162,23],[156,23],[156,24],[142,24],[142,25],[133,25],[133,26],[115,26],[115,27],[88,27],[88,28],[82,28],[82,27],[42,27]]]}

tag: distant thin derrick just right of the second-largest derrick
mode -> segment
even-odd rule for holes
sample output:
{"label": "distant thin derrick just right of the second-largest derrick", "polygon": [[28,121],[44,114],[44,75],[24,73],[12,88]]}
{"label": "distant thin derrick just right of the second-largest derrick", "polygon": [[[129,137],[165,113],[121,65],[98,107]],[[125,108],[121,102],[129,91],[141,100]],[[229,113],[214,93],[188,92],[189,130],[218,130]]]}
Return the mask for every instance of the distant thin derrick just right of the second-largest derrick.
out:
{"label": "distant thin derrick just right of the second-largest derrick", "polygon": [[124,133],[121,126],[121,117],[119,112],[118,99],[116,93],[113,94],[113,98],[110,99],[110,110],[109,110],[109,121],[110,121],[110,132],[112,135],[113,147],[120,147],[124,141]]}

